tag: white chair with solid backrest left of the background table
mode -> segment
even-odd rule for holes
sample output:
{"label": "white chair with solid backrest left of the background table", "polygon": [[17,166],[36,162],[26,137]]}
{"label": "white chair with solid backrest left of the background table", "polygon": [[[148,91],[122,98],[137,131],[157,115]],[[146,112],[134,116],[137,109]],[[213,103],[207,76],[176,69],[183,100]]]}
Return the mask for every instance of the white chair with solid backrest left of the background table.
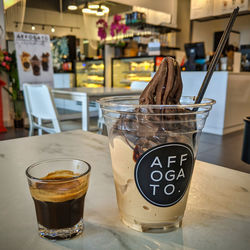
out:
{"label": "white chair with solid backrest left of the background table", "polygon": [[29,136],[34,134],[34,129],[38,129],[38,135],[42,135],[42,131],[52,134],[81,128],[80,123],[72,123],[71,126],[60,123],[53,97],[46,85],[25,83],[23,94],[30,124]]}

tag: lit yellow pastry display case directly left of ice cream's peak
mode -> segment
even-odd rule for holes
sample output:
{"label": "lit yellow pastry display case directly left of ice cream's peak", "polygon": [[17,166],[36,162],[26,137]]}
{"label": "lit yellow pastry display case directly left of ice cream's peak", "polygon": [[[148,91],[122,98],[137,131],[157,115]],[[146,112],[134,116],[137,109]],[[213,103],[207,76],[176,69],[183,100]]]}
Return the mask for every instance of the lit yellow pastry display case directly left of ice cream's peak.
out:
{"label": "lit yellow pastry display case directly left of ice cream's peak", "polygon": [[132,82],[149,82],[163,56],[112,58],[112,87],[130,88]]}

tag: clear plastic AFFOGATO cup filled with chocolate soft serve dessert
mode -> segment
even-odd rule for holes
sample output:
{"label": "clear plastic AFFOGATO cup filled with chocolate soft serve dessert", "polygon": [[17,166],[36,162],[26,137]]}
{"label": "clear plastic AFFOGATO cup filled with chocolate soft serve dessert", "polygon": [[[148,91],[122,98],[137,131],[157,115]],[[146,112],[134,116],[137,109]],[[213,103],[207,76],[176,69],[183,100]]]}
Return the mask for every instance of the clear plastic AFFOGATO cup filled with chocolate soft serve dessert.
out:
{"label": "clear plastic AFFOGATO cup filled with chocolate soft serve dessert", "polygon": [[180,67],[167,57],[139,103],[131,96],[100,101],[121,220],[138,231],[177,228],[184,215],[198,135],[211,105],[199,117],[193,98],[183,105],[181,94]]}

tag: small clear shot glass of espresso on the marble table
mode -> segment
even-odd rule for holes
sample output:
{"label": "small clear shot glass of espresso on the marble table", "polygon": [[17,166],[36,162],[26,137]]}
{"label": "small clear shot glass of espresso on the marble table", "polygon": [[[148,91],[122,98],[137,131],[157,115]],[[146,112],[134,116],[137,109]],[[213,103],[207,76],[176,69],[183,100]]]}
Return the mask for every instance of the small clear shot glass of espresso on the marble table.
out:
{"label": "small clear shot glass of espresso on the marble table", "polygon": [[83,232],[90,169],[87,162],[76,159],[46,160],[27,168],[41,237],[67,239]]}

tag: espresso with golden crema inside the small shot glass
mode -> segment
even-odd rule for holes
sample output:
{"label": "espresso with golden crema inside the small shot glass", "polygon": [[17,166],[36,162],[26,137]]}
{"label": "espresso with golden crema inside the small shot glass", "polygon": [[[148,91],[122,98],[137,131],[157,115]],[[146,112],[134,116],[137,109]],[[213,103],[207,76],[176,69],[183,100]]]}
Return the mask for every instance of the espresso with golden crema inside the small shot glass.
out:
{"label": "espresso with golden crema inside the small shot glass", "polygon": [[47,229],[75,226],[82,218],[88,176],[77,179],[72,171],[60,170],[30,187],[38,223]]}

